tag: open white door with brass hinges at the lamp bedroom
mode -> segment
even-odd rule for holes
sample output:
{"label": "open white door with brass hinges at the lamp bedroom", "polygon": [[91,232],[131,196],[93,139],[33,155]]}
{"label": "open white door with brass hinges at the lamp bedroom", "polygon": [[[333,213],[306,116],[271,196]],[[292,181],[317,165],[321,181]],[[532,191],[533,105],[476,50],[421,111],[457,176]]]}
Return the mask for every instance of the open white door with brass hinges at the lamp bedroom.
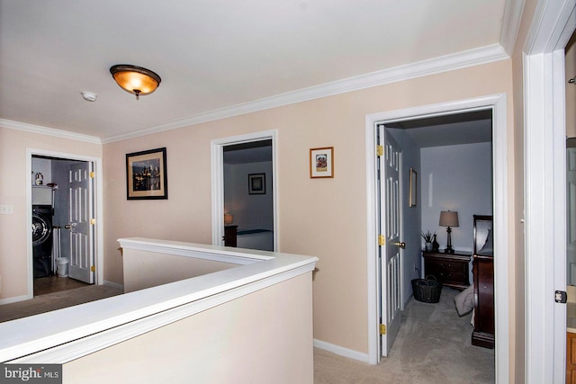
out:
{"label": "open white door with brass hinges at the lamp bedroom", "polygon": [[[401,326],[401,148],[383,125],[377,128],[380,350],[388,356]],[[383,140],[383,138],[385,138]]]}

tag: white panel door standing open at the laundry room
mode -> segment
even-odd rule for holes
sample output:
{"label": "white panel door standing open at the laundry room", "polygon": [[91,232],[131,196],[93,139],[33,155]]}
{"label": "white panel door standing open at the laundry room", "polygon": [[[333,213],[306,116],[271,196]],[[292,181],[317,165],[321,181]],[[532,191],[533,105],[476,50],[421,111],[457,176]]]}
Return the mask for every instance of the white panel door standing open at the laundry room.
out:
{"label": "white panel door standing open at the laundry room", "polygon": [[79,281],[94,283],[94,226],[92,163],[70,165],[68,191],[68,225],[70,236],[69,276]]}

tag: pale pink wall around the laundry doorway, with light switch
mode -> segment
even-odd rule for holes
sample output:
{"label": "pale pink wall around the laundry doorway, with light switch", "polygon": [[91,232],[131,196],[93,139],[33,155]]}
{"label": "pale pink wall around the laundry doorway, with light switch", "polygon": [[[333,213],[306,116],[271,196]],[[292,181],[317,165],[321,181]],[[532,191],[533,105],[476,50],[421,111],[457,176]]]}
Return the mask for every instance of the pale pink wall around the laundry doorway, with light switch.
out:
{"label": "pale pink wall around the laundry doorway, with light switch", "polygon": [[14,214],[0,215],[0,299],[28,294],[29,255],[26,242],[30,228],[26,207],[26,148],[79,156],[102,156],[100,144],[0,127],[0,204],[14,206]]}

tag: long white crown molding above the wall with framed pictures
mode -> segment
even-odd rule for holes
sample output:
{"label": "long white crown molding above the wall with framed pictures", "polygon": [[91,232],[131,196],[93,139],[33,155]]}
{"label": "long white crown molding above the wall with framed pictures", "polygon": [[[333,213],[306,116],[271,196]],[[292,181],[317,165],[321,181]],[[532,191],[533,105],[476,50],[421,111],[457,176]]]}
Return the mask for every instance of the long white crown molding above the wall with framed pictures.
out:
{"label": "long white crown molding above the wall with framed pictures", "polygon": [[509,55],[500,44],[492,44],[478,49],[465,50],[452,55],[419,61],[406,66],[393,67],[362,76],[349,77],[324,85],[311,86],[285,94],[277,94],[249,103],[241,103],[215,111],[199,113],[184,119],[156,124],[121,135],[109,136],[103,138],[102,141],[105,144],[128,138],[137,138],[165,130],[188,127],[202,122],[217,121],[245,113],[263,111],[293,103],[302,103],[322,97],[344,94],[421,76],[431,76],[464,67],[479,66],[508,58]]}

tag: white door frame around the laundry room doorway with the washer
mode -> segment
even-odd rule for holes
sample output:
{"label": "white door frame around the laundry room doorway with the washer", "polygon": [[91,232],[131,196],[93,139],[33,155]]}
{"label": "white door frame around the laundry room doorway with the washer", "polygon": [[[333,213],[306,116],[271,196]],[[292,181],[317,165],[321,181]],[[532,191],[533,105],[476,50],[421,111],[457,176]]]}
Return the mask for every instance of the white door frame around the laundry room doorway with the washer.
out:
{"label": "white door frame around the laundry room doorway with the washer", "polygon": [[[94,178],[93,186],[93,203],[94,203],[94,263],[96,267],[94,284],[103,284],[103,165],[102,158],[92,156],[81,156],[76,154],[69,154],[64,152],[54,152],[46,149],[26,148],[26,225],[31,228],[32,217],[32,156],[49,156],[61,158],[71,161],[84,161],[91,162],[94,165]],[[33,263],[32,263],[32,235],[31,231],[26,231],[26,245],[27,245],[27,271],[28,271],[28,294],[27,298],[32,299],[34,296],[34,276],[33,276]]]}

